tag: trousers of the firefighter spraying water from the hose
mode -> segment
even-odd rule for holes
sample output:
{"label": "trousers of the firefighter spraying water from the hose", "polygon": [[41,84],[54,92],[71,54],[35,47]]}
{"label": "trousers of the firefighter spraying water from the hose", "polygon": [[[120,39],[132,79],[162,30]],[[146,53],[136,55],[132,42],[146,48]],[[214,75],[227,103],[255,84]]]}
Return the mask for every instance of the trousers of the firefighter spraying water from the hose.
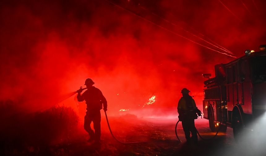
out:
{"label": "trousers of the firefighter spraying water from the hose", "polygon": [[[92,130],[91,123],[93,122]],[[89,133],[89,136],[95,139],[95,141],[100,141],[101,137],[101,112],[99,111],[87,111],[84,117],[84,129]]]}

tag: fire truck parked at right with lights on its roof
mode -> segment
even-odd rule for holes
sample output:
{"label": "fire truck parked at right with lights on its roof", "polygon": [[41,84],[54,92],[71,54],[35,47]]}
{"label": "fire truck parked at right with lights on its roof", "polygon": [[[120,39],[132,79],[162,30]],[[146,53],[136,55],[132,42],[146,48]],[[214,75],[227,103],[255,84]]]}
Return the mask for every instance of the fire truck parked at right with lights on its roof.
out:
{"label": "fire truck parked at right with lights on its roof", "polygon": [[[259,51],[226,64],[215,65],[215,77],[203,74],[203,113],[214,132],[233,128],[234,138],[243,129],[252,131],[257,118],[266,119],[266,45]],[[266,123],[266,121],[264,121]]]}

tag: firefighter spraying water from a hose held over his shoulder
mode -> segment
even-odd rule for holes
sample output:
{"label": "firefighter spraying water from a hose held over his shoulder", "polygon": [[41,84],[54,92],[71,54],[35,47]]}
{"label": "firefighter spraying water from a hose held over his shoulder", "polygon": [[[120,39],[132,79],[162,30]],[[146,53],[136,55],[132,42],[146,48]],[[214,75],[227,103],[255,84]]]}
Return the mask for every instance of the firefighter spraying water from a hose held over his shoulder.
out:
{"label": "firefighter spraying water from a hose held over his shoulder", "polygon": [[[101,137],[101,112],[100,110],[107,111],[107,101],[101,90],[92,86],[94,82],[92,79],[86,79],[85,85],[87,90],[81,95],[82,89],[77,90],[78,96],[77,99],[79,102],[86,101],[86,115],[84,117],[84,129],[88,132],[90,138],[88,142],[95,140],[95,143],[100,143]],[[91,123],[93,122],[93,128],[95,133],[91,128]]]}

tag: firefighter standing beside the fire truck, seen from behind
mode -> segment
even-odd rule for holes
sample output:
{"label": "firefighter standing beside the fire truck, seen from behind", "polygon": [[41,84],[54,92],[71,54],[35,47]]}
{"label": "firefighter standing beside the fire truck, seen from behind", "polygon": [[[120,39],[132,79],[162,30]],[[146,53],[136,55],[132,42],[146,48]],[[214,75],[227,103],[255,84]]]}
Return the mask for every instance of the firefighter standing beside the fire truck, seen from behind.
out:
{"label": "firefighter standing beside the fire truck, seen from behind", "polygon": [[[194,143],[198,142],[197,130],[195,128],[194,119],[197,119],[198,115],[200,116],[200,111],[196,107],[196,103],[194,99],[188,95],[190,91],[186,88],[181,90],[183,97],[178,101],[177,111],[178,118],[182,122],[182,127],[185,132],[185,137],[187,139],[187,143],[190,143],[191,140]],[[192,137],[190,138],[190,132]]]}

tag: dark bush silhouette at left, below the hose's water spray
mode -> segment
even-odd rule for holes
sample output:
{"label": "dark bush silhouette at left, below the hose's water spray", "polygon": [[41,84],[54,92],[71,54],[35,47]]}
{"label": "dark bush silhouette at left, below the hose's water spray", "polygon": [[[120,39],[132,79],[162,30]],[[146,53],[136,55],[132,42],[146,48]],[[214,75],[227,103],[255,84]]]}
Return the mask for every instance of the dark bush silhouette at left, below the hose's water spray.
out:
{"label": "dark bush silhouette at left, below the hose's water spray", "polygon": [[[73,140],[79,118],[71,107],[57,106],[25,113],[8,100],[0,102],[0,148],[2,152],[47,148]],[[30,149],[32,150],[32,149]]]}

